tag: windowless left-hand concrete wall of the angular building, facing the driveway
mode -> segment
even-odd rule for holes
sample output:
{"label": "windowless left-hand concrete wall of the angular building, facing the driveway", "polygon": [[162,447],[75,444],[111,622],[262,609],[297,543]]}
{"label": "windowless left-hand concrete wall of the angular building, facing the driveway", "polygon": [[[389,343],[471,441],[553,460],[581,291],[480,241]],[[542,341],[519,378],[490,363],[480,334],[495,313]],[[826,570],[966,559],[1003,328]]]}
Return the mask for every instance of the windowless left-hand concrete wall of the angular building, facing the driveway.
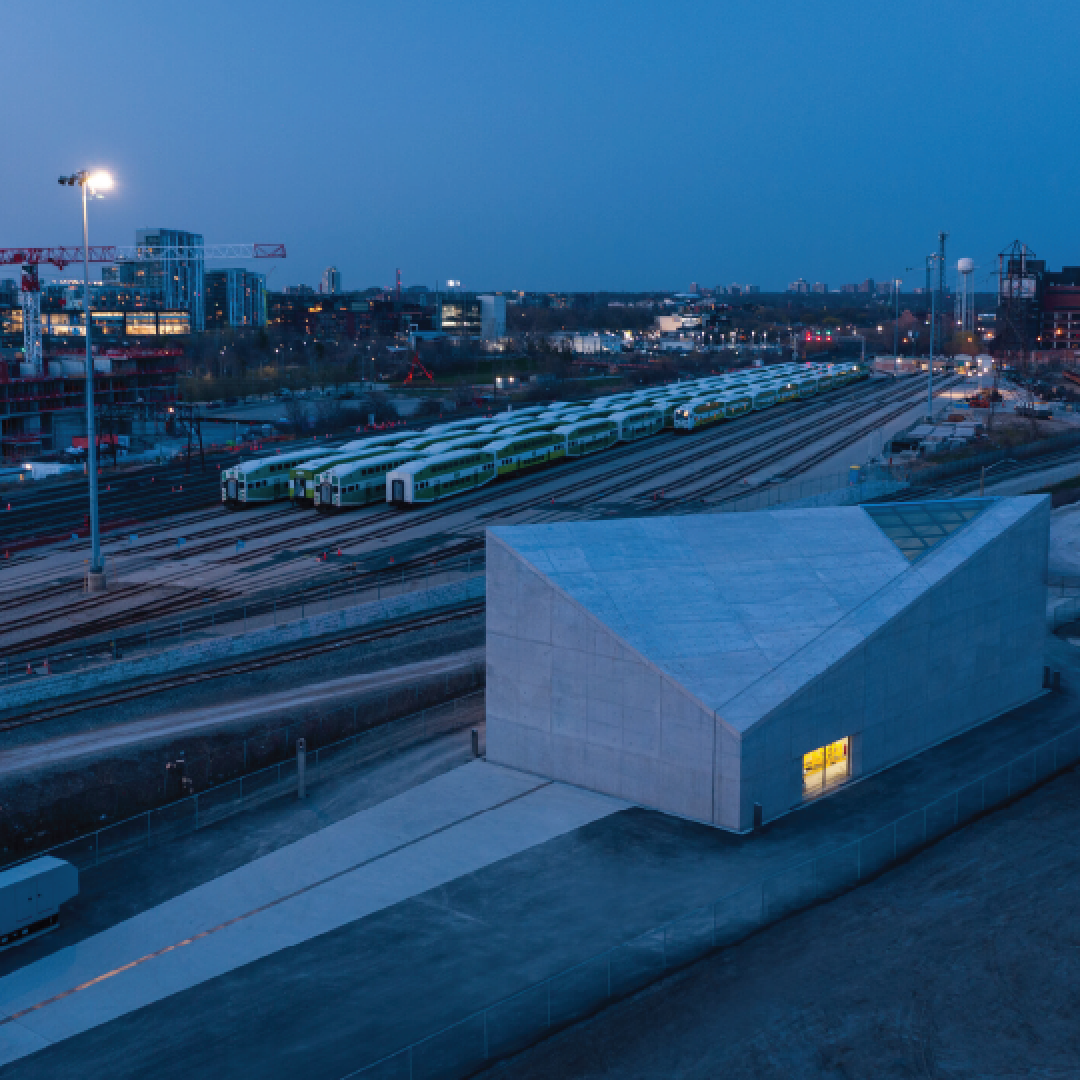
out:
{"label": "windowless left-hand concrete wall of the angular building, facing the driveway", "polygon": [[728,824],[737,744],[713,712],[490,536],[487,575],[488,760]]}

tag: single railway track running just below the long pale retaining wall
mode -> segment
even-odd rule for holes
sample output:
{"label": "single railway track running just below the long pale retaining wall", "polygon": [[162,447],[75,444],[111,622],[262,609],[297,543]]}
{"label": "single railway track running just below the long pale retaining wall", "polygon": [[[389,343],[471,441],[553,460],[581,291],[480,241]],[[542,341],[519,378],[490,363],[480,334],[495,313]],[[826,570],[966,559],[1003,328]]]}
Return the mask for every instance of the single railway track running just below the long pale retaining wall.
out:
{"label": "single railway track running just below the long pale retaining wall", "polygon": [[154,679],[153,681],[141,683],[137,686],[125,687],[124,689],[100,694],[97,698],[89,700],[83,698],[79,701],[62,702],[56,705],[50,705],[46,708],[38,708],[21,715],[9,716],[0,720],[0,731],[13,731],[16,728],[43,724],[45,720],[56,719],[60,716],[70,716],[73,713],[81,713],[90,708],[107,708],[134,701],[138,698],[162,693],[165,690],[175,690],[185,686],[206,683],[211,679],[226,678],[230,675],[245,675],[251,672],[265,671],[269,667],[276,667],[280,664],[325,656],[328,652],[349,649],[355,645],[364,645],[368,642],[386,640],[392,637],[400,637],[402,634],[413,633],[417,630],[426,630],[430,626],[460,622],[463,619],[470,619],[473,616],[480,615],[483,610],[483,602],[468,604],[450,611],[417,616],[411,619],[401,620],[400,622],[384,623],[377,627],[355,631],[327,642],[316,642],[299,648],[291,646],[287,650],[253,657],[248,660],[237,661],[235,663],[214,667],[208,671],[171,675],[165,678]]}

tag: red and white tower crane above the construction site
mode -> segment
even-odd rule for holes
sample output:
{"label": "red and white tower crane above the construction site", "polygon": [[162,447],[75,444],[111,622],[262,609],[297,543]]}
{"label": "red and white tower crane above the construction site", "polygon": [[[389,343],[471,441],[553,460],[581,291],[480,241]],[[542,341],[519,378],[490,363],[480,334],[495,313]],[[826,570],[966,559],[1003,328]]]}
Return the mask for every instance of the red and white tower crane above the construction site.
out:
{"label": "red and white tower crane above the construction site", "polygon": [[[91,262],[116,262],[121,259],[283,259],[284,244],[202,244],[123,247],[113,244],[86,248]],[[41,283],[38,267],[49,264],[63,270],[73,262],[82,262],[82,247],[0,247],[0,266],[22,266],[23,306],[23,359],[33,365],[33,372],[43,370],[41,360]]]}

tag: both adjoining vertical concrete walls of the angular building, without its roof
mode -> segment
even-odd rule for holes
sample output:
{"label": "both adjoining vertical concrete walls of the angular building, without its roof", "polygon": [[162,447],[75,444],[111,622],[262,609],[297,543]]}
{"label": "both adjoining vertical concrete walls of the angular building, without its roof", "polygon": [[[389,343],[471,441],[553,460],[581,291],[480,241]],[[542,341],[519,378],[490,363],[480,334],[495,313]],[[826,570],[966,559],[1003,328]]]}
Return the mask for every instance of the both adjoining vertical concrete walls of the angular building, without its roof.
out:
{"label": "both adjoining vertical concrete walls of the angular building, without its roof", "polygon": [[712,712],[489,536],[488,757],[747,829],[755,804],[802,804],[809,751],[849,735],[854,774],[877,771],[1040,692],[1049,523],[1049,498],[989,507],[752,685],[773,704],[738,718],[740,699]]}

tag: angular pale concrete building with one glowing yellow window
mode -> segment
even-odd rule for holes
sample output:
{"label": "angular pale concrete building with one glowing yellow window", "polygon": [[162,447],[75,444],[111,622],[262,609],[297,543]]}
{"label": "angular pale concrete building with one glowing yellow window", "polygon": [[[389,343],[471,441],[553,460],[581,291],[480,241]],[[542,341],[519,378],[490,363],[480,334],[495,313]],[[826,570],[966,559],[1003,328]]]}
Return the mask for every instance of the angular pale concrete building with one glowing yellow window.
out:
{"label": "angular pale concrete building with one glowing yellow window", "polygon": [[494,528],[489,760],[753,827],[1039,693],[1050,499]]}

